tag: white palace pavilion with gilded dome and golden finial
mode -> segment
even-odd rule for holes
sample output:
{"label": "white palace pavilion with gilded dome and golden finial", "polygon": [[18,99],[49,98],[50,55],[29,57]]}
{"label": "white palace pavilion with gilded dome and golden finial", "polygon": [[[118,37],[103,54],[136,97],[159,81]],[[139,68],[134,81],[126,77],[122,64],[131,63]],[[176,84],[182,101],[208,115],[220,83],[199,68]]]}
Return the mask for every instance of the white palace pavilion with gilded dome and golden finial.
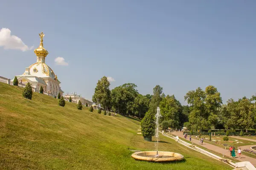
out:
{"label": "white palace pavilion with gilded dome and golden finial", "polygon": [[[29,82],[32,87],[40,90],[41,86],[44,89],[44,93],[51,96],[57,96],[58,93],[64,93],[60,87],[60,81],[53,70],[45,63],[48,51],[44,48],[43,38],[44,33],[39,34],[41,40],[38,48],[34,50],[36,55],[36,62],[25,69],[22,75],[16,76],[18,82],[26,84]],[[13,79],[12,79],[13,81]]]}

